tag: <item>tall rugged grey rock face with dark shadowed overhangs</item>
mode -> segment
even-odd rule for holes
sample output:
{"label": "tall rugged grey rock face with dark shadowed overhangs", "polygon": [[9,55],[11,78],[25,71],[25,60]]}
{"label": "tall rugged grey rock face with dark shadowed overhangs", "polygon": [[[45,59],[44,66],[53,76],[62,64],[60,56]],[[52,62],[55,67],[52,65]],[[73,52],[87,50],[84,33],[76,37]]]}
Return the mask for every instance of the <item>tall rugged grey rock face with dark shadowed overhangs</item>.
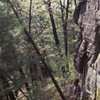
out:
{"label": "tall rugged grey rock face with dark shadowed overhangs", "polygon": [[74,57],[82,79],[80,100],[100,100],[100,0],[79,0],[74,21],[80,27]]}

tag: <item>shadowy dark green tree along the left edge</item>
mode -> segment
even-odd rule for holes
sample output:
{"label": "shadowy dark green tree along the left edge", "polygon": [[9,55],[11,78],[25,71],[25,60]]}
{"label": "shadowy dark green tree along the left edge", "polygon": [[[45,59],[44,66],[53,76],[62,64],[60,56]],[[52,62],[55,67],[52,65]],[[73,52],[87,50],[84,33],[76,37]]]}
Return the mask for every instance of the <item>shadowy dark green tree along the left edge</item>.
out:
{"label": "shadowy dark green tree along the left edge", "polygon": [[[9,6],[7,7],[6,3],[2,3],[2,5],[3,6],[0,6],[0,20],[1,23],[3,23],[0,25],[0,28],[2,28],[2,30],[0,30],[0,79],[3,89],[1,89],[0,96],[4,98],[6,95],[10,100],[16,100],[14,92],[20,89],[20,86],[18,85],[21,84],[18,80],[22,77],[25,78],[22,68],[23,60],[21,60],[23,54],[18,51],[16,46],[17,43],[12,35],[12,33],[16,31],[16,27],[19,28],[17,26],[17,21],[15,21],[10,10],[8,10]],[[9,21],[8,19],[11,19],[12,21]],[[17,32],[18,30],[16,33]],[[19,41],[17,37],[16,40]],[[27,82],[25,82],[25,86],[28,90]]]}

